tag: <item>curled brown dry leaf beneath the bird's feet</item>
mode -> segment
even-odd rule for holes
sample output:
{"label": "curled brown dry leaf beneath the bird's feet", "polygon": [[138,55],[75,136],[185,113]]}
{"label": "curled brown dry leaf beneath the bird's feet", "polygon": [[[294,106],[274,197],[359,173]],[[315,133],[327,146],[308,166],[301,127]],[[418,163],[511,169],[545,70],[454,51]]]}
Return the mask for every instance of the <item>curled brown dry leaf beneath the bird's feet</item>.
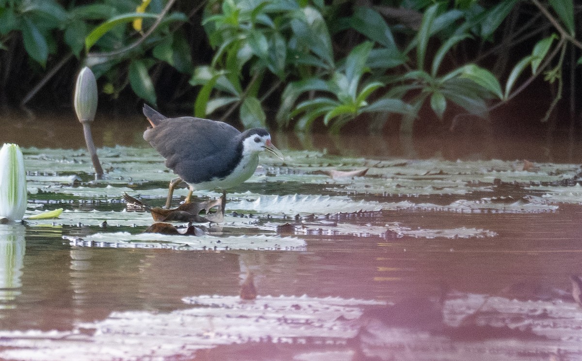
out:
{"label": "curled brown dry leaf beneath the bird's feet", "polygon": [[[221,223],[224,220],[221,198],[215,199],[214,201],[182,203],[178,208],[173,209],[152,208],[127,193],[123,194],[123,198],[125,198],[128,205],[134,205],[151,212],[151,216],[157,222]],[[210,210],[212,208],[217,208],[217,212],[211,213]],[[204,211],[204,216],[200,215],[202,211]]]}

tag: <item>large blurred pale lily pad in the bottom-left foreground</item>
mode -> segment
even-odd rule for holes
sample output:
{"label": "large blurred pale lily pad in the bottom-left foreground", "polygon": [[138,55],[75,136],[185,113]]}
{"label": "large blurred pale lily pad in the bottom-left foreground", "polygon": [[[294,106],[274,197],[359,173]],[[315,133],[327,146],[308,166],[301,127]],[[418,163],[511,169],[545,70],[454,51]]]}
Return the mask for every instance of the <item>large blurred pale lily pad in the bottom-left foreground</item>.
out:
{"label": "large blurred pale lily pad in the bottom-left foreground", "polygon": [[76,323],[71,331],[0,331],[5,340],[0,358],[192,359],[196,351],[243,342],[345,342],[358,333],[365,306],[386,305],[310,296],[257,296],[255,301],[241,301],[239,296],[203,295],[186,297],[183,302],[196,307],[169,313],[113,312],[104,320]]}

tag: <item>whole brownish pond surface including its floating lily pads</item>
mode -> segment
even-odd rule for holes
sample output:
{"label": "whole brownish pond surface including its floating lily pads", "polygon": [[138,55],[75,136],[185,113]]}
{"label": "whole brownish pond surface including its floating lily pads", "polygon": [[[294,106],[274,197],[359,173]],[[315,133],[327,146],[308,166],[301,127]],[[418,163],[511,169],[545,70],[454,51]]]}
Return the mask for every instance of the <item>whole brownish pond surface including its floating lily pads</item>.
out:
{"label": "whole brownish pond surface including its floating lily pads", "polygon": [[275,134],[288,158],[261,158],[200,250],[140,238],[151,217],[125,212],[122,191],[159,206],[172,177],[143,121],[94,128],[96,183],[80,124],[2,124],[25,147],[28,214],[65,213],[0,226],[0,359],[582,358],[577,141]]}

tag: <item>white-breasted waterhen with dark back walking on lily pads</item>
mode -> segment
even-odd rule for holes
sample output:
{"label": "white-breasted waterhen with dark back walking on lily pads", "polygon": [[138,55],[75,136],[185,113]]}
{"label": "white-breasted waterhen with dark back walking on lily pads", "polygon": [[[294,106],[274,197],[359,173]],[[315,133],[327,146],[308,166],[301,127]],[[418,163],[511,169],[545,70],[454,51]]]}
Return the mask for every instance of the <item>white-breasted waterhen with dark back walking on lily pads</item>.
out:
{"label": "white-breasted waterhen with dark back walking on lily pads", "polygon": [[144,140],[166,159],[166,167],[179,176],[170,181],[166,208],[170,208],[173,190],[180,180],[190,187],[186,202],[194,190],[219,188],[224,197],[226,190],[253,175],[260,152],[269,151],[283,159],[281,151],[271,143],[271,135],[263,128],[240,133],[222,121],[168,118],[146,104],[143,113],[151,124],[144,132]]}

